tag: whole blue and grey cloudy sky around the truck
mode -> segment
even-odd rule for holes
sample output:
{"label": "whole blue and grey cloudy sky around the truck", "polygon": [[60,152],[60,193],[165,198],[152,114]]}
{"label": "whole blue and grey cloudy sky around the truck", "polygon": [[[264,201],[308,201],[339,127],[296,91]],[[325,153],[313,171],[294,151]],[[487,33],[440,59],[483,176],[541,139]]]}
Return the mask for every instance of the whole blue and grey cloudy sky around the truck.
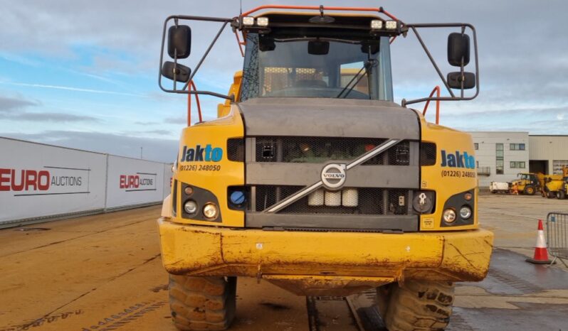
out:
{"label": "whole blue and grey cloudy sky around the truck", "polygon": [[[278,1],[273,1],[278,2]],[[345,1],[280,4],[345,5]],[[481,92],[445,102],[441,124],[467,131],[568,134],[568,2],[349,1],[382,4],[407,23],[468,22],[478,29]],[[243,0],[246,10],[270,1]],[[157,87],[162,23],[170,14],[232,17],[238,0],[0,0],[0,136],[172,161],[186,102]],[[219,28],[192,23],[194,67]],[[446,35],[424,33],[444,72]],[[441,85],[416,38],[392,47],[395,99]],[[242,58],[227,30],[196,76],[226,93]],[[221,99],[204,97],[205,119]],[[423,107],[416,105],[417,108]],[[433,110],[433,109],[431,109]]]}

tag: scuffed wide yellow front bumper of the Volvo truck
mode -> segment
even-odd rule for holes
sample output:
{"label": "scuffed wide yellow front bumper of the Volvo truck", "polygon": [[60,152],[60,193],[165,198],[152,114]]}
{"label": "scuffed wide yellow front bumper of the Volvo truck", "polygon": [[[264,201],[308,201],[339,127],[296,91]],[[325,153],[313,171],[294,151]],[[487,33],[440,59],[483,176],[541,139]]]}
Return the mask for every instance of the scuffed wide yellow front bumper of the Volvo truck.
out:
{"label": "scuffed wide yellow front bumper of the Volvo truck", "polygon": [[389,283],[404,279],[480,281],[493,233],[382,234],[288,232],[204,227],[158,220],[162,261],[169,273],[255,276],[271,281]]}

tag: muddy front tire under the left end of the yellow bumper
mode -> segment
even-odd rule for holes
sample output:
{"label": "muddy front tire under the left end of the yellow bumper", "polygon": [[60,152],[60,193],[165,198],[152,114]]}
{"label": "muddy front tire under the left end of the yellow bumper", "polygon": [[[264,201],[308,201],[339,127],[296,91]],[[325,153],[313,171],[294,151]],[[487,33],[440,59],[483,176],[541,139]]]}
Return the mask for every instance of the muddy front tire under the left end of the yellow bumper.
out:
{"label": "muddy front tire under the left end of the yellow bumper", "polygon": [[236,277],[169,275],[169,307],[178,330],[226,330],[236,310]]}

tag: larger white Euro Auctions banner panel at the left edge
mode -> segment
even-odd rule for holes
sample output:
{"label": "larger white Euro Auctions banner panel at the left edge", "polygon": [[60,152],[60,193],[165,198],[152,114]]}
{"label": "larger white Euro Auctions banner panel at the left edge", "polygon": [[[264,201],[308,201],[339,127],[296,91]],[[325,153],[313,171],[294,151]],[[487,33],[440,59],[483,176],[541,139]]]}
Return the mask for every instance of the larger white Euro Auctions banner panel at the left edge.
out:
{"label": "larger white Euro Auctions banner panel at the left edge", "polygon": [[0,138],[0,155],[0,223],[105,207],[105,154]]}

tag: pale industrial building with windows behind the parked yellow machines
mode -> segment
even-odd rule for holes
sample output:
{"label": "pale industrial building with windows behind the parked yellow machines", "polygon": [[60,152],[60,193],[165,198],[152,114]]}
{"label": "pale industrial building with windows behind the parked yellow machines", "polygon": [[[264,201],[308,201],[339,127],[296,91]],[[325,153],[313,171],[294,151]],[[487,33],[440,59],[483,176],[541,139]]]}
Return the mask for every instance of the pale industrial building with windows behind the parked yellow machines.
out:
{"label": "pale industrial building with windows behind the parked yellow machines", "polygon": [[530,135],[522,131],[470,132],[479,187],[506,182],[518,173],[562,173],[568,165],[567,135]]}

